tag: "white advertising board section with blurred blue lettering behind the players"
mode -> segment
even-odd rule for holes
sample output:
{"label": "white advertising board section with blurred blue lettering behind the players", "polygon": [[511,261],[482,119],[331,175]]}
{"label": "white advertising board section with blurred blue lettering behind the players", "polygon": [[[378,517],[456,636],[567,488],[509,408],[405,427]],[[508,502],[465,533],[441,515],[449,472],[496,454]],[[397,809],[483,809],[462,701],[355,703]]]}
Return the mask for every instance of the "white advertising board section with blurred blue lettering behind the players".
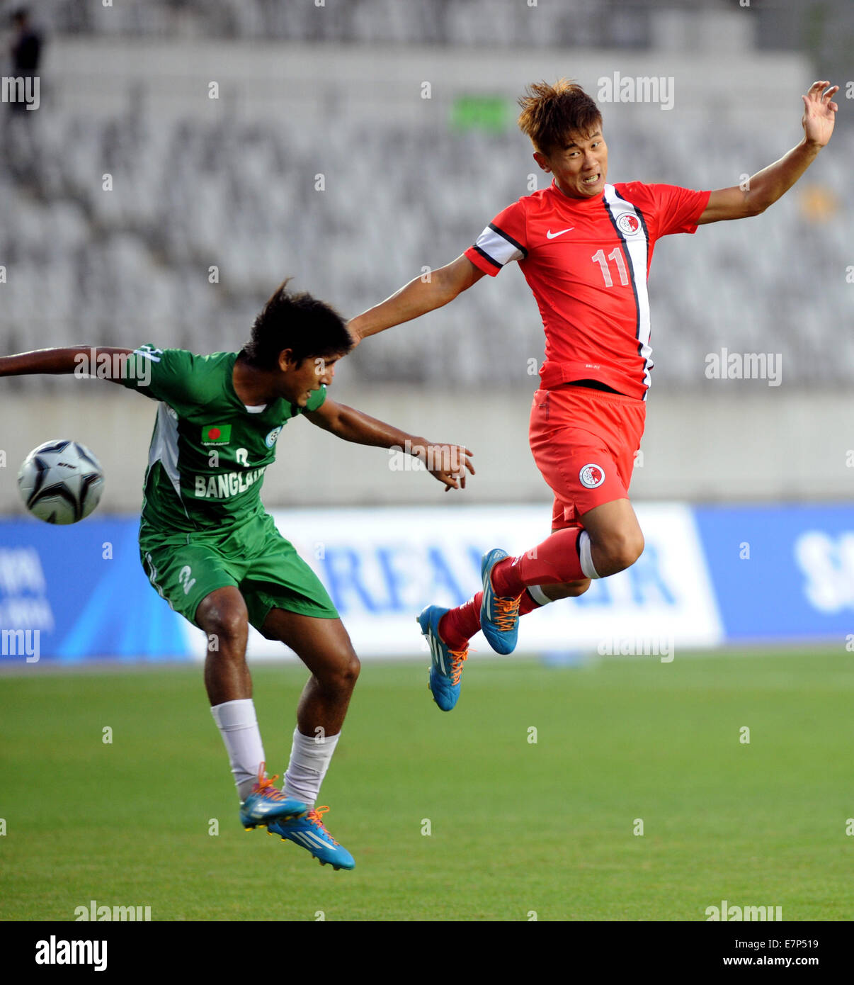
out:
{"label": "white advertising board section with blurred blue lettering behind the players", "polygon": [[[594,581],[578,599],[544,606],[519,626],[519,653],[659,653],[716,646],[723,634],[692,509],[637,507],[646,549],[626,571]],[[327,586],[356,653],[429,660],[415,617],[458,606],[480,588],[480,557],[530,551],[549,534],[548,505],[274,510],[282,535]],[[193,641],[204,656],[204,637]],[[486,652],[480,634],[472,646]],[[250,655],[280,656],[252,635]]]}

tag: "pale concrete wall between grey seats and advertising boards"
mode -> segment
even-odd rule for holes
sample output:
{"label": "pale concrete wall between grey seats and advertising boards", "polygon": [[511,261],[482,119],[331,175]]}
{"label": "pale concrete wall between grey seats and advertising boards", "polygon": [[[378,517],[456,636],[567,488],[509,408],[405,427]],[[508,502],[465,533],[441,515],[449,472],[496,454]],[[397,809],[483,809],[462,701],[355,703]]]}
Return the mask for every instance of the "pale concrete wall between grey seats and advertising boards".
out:
{"label": "pale concrete wall between grey seats and advertising boards", "polygon": [[[345,377],[345,372],[340,373]],[[389,386],[335,398],[436,441],[466,444],[477,475],[469,502],[549,500],[527,446],[530,391],[429,393]],[[16,476],[31,448],[54,437],[89,445],[106,474],[101,509],[136,511],[154,418],[152,401],[95,380],[63,380],[49,396],[3,394],[0,386],[0,512],[20,513]],[[429,476],[393,471],[388,452],[340,441],[308,421],[285,428],[267,474],[268,506],[447,502]],[[637,498],[739,500],[850,498],[854,411],[844,394],[786,392],[749,380],[721,383],[702,400],[656,392],[648,403]]]}

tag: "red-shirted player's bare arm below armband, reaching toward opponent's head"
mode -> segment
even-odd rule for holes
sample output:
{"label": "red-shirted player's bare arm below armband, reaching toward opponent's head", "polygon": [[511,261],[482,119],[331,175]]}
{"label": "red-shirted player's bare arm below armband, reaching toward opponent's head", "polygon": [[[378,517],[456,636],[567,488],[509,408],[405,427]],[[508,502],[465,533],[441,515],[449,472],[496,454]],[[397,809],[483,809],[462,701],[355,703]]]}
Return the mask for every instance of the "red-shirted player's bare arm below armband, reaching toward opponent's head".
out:
{"label": "red-shirted player's bare arm below armband, reaching toward opponent's head", "polygon": [[462,254],[444,267],[414,278],[394,295],[356,315],[347,323],[353,344],[358,345],[369,335],[376,335],[393,325],[442,307],[472,284],[476,284],[481,277],[483,271],[478,270]]}

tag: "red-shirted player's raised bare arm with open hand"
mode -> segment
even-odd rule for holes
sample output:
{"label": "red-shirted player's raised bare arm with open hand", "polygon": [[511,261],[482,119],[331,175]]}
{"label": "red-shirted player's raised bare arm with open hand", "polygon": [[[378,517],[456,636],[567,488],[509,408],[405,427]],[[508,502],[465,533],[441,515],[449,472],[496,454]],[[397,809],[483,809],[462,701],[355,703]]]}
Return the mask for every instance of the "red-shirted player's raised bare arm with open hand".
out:
{"label": "red-shirted player's raised bare arm with open hand", "polygon": [[829,82],[814,82],[807,95],[801,97],[804,100],[801,120],[804,139],[801,143],[779,161],[754,174],[744,187],[736,185],[713,191],[698,225],[758,216],[784,195],[816,160],[819,151],[830,139],[839,108],[832,99],[838,90],[838,86],[830,86]]}

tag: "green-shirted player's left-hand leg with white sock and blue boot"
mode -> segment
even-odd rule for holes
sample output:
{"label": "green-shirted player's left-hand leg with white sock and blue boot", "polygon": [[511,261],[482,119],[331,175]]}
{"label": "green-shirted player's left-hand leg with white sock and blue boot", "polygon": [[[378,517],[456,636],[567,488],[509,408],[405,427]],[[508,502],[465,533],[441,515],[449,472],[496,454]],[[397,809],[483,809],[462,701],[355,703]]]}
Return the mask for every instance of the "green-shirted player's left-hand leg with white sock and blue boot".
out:
{"label": "green-shirted player's left-hand leg with white sock and blue boot", "polygon": [[264,746],[246,666],[249,622],[243,596],[233,586],[217,588],[199,603],[196,623],[208,638],[205,687],[241,801],[241,823],[250,829],[305,815],[307,805],[276,790],[276,777],[268,779],[264,771]]}

